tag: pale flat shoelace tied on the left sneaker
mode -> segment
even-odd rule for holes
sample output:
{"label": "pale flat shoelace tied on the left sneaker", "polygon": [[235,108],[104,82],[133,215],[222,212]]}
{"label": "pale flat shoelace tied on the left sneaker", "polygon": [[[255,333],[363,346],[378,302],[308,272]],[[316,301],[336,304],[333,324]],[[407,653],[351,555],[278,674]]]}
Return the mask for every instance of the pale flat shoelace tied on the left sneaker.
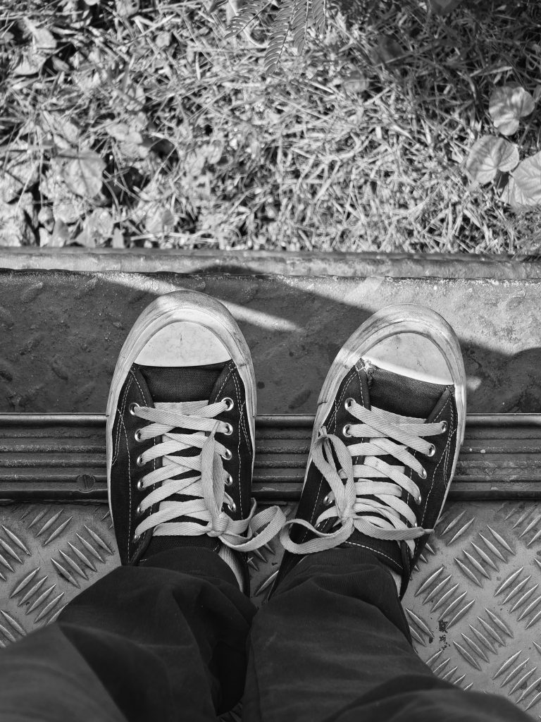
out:
{"label": "pale flat shoelace tied on the left sneaker", "polygon": [[[250,513],[246,518],[234,520],[222,507],[224,503],[234,511],[234,500],[226,492],[233,483],[226,473],[222,458],[231,458],[231,451],[216,438],[216,432],[230,433],[230,425],[215,417],[230,409],[231,399],[222,399],[216,404],[208,401],[182,403],[161,403],[154,408],[134,405],[135,416],[153,422],[136,432],[138,441],[161,437],[162,441],[138,456],[138,466],[145,466],[155,458],[162,459],[162,466],[153,469],[138,482],[138,490],[149,489],[159,482],[159,487],[149,492],[138,506],[138,514],[156,503],[159,509],[138,524],[135,538],[153,529],[153,536],[218,536],[227,547],[241,552],[250,552],[266,544],[280,531],[286,517],[277,506],[267,508],[255,515],[256,502],[252,499]],[[173,433],[176,427],[190,429],[195,433]],[[190,448],[201,449],[194,456],[172,456],[177,451]],[[178,474],[193,470],[196,473],[185,479],[173,479]],[[174,494],[197,497],[193,500],[170,500]],[[180,516],[189,516],[195,521],[171,521]],[[247,531],[246,536],[241,536]]]}

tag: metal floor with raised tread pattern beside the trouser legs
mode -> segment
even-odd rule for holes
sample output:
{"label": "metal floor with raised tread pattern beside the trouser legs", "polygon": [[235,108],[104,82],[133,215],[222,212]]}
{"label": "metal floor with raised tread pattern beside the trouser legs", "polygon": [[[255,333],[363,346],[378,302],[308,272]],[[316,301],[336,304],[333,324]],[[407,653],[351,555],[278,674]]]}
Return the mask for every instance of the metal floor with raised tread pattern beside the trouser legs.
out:
{"label": "metal floor with raised tread pattern beside the trouser legs", "polygon": [[[294,504],[285,505],[288,515]],[[265,602],[281,549],[249,556]],[[53,622],[118,565],[107,505],[0,507],[0,645]],[[541,719],[541,504],[447,505],[404,599],[415,650],[463,689],[506,695]],[[238,712],[224,719],[234,720]]]}

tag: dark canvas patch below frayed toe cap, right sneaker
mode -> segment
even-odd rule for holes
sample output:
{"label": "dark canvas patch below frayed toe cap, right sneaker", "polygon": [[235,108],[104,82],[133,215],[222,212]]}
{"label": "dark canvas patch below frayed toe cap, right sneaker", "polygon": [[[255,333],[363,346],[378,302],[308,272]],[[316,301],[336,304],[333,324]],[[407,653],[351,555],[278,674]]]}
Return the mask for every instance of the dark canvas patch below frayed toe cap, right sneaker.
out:
{"label": "dark canvas patch below frayed toe cap, right sneaker", "polygon": [[366,367],[371,406],[400,416],[428,419],[446,386]]}

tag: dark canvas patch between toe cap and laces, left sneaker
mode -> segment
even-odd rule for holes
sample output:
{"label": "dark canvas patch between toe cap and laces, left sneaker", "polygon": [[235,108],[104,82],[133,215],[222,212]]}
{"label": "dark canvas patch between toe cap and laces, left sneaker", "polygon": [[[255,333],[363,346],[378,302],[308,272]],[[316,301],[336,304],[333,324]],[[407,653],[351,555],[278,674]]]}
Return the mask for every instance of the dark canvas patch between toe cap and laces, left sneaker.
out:
{"label": "dark canvas patch between toe cap and laces, left sneaker", "polygon": [[206,366],[139,366],[154,404],[210,399],[226,362]]}

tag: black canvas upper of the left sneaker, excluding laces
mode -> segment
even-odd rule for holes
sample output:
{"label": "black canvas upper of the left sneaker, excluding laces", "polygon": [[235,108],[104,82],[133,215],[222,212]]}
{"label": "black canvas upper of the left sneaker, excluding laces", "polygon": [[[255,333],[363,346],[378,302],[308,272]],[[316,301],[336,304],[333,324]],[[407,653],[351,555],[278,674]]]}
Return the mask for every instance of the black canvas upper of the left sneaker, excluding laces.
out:
{"label": "black canvas upper of the left sneaker, excluding laces", "polygon": [[[233,512],[226,505],[224,511],[234,519],[245,518],[250,513],[250,497],[252,484],[252,440],[247,417],[245,388],[236,365],[232,360],[221,364],[198,367],[152,367],[134,363],[131,366],[118,398],[118,409],[113,425],[113,462],[111,466],[110,500],[113,510],[113,523],[118,541],[120,560],[123,564],[144,563],[151,555],[164,549],[180,546],[198,546],[218,550],[221,541],[217,537],[206,534],[199,536],[152,536],[152,530],[146,531],[136,541],[133,534],[138,524],[159,508],[159,503],[151,506],[143,516],[136,515],[138,504],[152,490],[147,487],[138,490],[136,484],[141,477],[162,465],[160,458],[152,460],[145,466],[137,466],[139,454],[161,443],[161,438],[146,441],[135,440],[136,430],[148,425],[144,419],[129,413],[130,404],[135,402],[141,406],[153,407],[164,401],[202,401],[208,399],[209,404],[229,397],[234,406],[224,410],[220,421],[232,425],[232,434],[216,433],[216,440],[224,444],[232,452],[230,461],[222,460],[224,469],[231,474],[233,484],[226,491],[236,505]],[[193,433],[193,430],[175,429],[177,433]],[[193,448],[178,455],[201,453]],[[185,471],[175,478],[188,478],[195,471]],[[171,500],[193,499],[189,495],[174,495]],[[175,521],[188,521],[179,517]],[[190,518],[190,521],[197,521]],[[203,522],[200,522],[203,524]],[[245,588],[249,585],[247,565],[242,557],[245,575]]]}

